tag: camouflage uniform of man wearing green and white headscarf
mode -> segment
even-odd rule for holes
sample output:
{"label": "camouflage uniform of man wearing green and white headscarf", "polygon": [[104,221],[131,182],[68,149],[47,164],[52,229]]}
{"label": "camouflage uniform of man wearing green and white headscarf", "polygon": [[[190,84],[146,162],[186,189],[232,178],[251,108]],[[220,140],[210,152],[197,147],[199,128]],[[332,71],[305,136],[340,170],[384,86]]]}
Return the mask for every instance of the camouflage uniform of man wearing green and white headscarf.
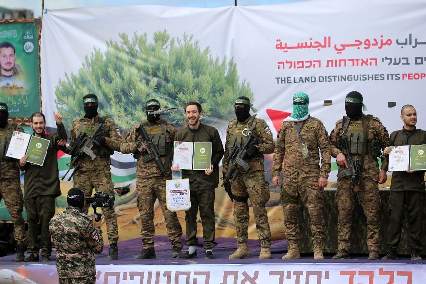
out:
{"label": "camouflage uniform of man wearing green and white headscarf", "polygon": [[284,121],[281,125],[275,144],[272,176],[280,175],[285,155],[281,199],[287,240],[298,243],[300,239],[297,217],[299,205],[284,202],[284,193],[299,198],[308,209],[312,224],[312,242],[322,246],[325,237],[324,189],[318,187],[318,180],[319,178],[327,179],[330,172],[331,153],[328,134],[319,119],[308,117],[300,130],[309,154],[307,158],[303,158],[296,123],[299,126],[302,124],[302,122]]}

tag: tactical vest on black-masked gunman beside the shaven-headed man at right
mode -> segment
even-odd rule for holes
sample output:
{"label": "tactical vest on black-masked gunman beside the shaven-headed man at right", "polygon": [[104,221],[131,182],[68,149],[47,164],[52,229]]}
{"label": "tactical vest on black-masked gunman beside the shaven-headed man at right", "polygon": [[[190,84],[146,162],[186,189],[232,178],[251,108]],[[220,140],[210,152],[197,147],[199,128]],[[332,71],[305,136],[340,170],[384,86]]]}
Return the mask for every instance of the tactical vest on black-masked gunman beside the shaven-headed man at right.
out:
{"label": "tactical vest on black-masked gunman beside the shaven-headed man at right", "polygon": [[[368,125],[368,122],[372,118],[373,118],[372,115],[367,115],[365,117],[362,117],[360,123],[351,122],[348,117],[343,118],[343,127],[340,133],[346,133],[346,141],[348,142],[349,151],[351,155],[362,154],[362,147],[364,144],[364,129],[362,126],[362,121],[366,119],[367,120],[366,125]],[[368,135],[368,130],[365,132]],[[380,147],[379,139],[377,137],[367,140],[366,155],[371,155],[376,158],[381,156],[381,147]]]}

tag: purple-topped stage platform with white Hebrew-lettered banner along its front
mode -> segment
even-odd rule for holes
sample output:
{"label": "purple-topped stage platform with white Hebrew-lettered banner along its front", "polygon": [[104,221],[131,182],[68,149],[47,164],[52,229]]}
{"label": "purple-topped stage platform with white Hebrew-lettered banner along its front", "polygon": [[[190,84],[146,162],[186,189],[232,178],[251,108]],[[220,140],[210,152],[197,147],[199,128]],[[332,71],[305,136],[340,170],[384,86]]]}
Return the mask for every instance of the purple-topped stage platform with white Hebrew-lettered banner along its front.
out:
{"label": "purple-topped stage platform with white Hebrew-lettered banner along its front", "polygon": [[[202,239],[199,238],[200,243]],[[425,284],[426,260],[367,260],[367,255],[351,255],[349,260],[334,260],[332,254],[314,260],[312,254],[301,259],[283,260],[286,240],[273,241],[271,259],[259,259],[260,242],[249,240],[249,259],[228,259],[236,249],[235,238],[219,238],[213,249],[215,259],[204,259],[197,247],[197,259],[171,258],[165,236],[156,236],[156,259],[135,259],[142,250],[141,240],[118,243],[119,260],[106,260],[108,246],[95,255],[99,284]],[[186,250],[186,246],[184,247]],[[13,262],[15,255],[0,258],[0,284],[57,283],[55,252],[51,262]]]}

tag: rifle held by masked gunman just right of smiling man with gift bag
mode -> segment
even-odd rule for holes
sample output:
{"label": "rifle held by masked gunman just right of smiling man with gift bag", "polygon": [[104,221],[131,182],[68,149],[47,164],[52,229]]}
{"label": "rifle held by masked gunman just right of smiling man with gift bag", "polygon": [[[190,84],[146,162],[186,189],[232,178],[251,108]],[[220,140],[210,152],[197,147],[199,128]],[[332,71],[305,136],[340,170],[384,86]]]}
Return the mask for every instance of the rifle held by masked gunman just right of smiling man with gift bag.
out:
{"label": "rifle held by masked gunman just right of smiling man with gift bag", "polygon": [[239,174],[237,166],[243,168],[244,171],[248,171],[250,169],[250,165],[246,161],[244,161],[244,156],[247,152],[247,149],[249,149],[250,146],[256,144],[256,141],[258,140],[258,136],[252,131],[250,131],[250,134],[245,144],[241,148],[237,147],[237,145],[234,145],[231,150],[231,154],[229,154],[229,168],[225,176],[223,177],[222,187],[225,187],[225,191],[231,198],[231,201],[233,201],[233,199],[236,199],[236,197],[233,196],[231,192],[231,181],[234,181]]}

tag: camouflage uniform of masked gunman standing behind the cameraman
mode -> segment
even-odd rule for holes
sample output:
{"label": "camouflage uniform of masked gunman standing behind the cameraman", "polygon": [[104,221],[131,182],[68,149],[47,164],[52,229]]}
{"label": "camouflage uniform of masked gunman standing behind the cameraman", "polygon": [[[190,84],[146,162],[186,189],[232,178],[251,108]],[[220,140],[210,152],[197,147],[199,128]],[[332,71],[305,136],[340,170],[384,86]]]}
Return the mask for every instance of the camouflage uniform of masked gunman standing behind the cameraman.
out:
{"label": "camouflage uniform of masked gunman standing behind the cameraman", "polygon": [[[108,193],[110,196],[114,196],[114,184],[111,180],[110,170],[110,155],[114,153],[114,150],[120,151],[121,138],[117,134],[117,130],[114,121],[111,118],[103,118],[104,129],[107,131],[107,137],[105,138],[105,145],[103,149],[92,150],[96,153],[102,151],[100,156],[97,156],[93,161],[88,155],[83,155],[78,163],[78,169],[74,174],[74,187],[80,188],[84,191],[86,197],[92,196],[93,189],[96,191],[102,191]],[[83,122],[83,127],[80,129],[80,122]],[[91,136],[94,129],[99,124],[99,116],[95,116],[92,119],[81,117],[72,122],[70,130],[70,145],[67,150],[70,151],[74,140],[78,137],[80,131],[86,132],[88,136]],[[86,204],[83,208],[83,213],[87,214],[89,205]],[[108,232],[108,242],[117,243],[118,240],[118,226],[117,217],[113,208],[102,207],[102,212],[105,216],[105,222]]]}

